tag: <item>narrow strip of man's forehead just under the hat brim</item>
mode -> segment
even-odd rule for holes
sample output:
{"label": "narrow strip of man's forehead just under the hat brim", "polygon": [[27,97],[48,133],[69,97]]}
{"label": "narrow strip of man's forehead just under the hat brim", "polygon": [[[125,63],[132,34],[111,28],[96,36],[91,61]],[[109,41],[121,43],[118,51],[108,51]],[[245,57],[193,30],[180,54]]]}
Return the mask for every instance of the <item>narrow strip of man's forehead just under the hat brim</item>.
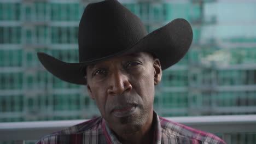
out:
{"label": "narrow strip of man's forehead just under the hat brim", "polygon": [[137,52],[137,53],[132,53],[132,54],[128,54],[128,55],[122,55],[122,56],[116,56],[113,58],[109,58],[105,61],[101,61],[95,64],[91,64],[88,65],[87,69],[92,69],[94,68],[96,65],[100,65],[100,64],[104,64],[104,63],[112,63],[113,61],[130,61],[133,58],[139,59],[141,61],[150,61],[150,59],[153,58],[152,54],[148,53],[148,52]]}

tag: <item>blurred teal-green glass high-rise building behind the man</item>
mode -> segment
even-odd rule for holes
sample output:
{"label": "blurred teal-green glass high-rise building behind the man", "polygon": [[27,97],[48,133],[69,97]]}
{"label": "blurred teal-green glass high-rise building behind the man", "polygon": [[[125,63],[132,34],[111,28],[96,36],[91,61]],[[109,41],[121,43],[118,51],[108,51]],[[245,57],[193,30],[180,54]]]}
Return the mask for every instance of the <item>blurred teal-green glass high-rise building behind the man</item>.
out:
{"label": "blurred teal-green glass high-rise building behind the man", "polygon": [[[0,122],[99,115],[85,86],[57,79],[37,58],[40,51],[78,62],[78,24],[90,2],[96,1],[0,1]],[[160,116],[256,113],[256,1],[120,2],[148,32],[178,17],[193,27],[189,52],[163,72],[156,87],[154,107]],[[244,137],[256,142],[255,134]]]}

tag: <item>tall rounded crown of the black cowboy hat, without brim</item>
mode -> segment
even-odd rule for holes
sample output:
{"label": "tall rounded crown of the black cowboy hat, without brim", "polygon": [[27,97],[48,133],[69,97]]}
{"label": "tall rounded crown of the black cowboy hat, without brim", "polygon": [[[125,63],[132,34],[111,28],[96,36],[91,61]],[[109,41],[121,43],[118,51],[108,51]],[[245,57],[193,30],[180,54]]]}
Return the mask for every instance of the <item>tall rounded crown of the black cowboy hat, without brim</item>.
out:
{"label": "tall rounded crown of the black cowboy hat, without brim", "polygon": [[79,62],[129,49],[146,35],[139,18],[117,1],[89,4],[79,24]]}

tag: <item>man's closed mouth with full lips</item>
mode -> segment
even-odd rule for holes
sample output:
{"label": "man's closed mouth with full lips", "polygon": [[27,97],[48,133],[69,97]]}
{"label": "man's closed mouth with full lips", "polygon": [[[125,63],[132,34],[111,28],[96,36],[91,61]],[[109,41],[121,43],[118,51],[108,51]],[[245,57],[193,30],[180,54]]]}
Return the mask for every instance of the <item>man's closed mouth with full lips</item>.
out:
{"label": "man's closed mouth with full lips", "polygon": [[132,115],[137,108],[137,105],[119,106],[112,110],[115,117],[126,117]]}

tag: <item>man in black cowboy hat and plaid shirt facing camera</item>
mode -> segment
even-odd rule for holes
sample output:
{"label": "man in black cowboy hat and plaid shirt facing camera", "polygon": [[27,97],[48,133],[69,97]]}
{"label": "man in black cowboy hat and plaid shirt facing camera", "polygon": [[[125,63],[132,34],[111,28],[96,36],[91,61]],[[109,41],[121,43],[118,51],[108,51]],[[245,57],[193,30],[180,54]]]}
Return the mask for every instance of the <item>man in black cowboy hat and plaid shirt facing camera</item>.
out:
{"label": "man in black cowboy hat and plaid shirt facing camera", "polygon": [[79,23],[79,63],[45,53],[40,62],[60,79],[86,85],[101,117],[45,136],[38,143],[225,143],[218,137],[159,117],[154,86],[193,38],[184,19],[147,34],[117,0],[89,4]]}

